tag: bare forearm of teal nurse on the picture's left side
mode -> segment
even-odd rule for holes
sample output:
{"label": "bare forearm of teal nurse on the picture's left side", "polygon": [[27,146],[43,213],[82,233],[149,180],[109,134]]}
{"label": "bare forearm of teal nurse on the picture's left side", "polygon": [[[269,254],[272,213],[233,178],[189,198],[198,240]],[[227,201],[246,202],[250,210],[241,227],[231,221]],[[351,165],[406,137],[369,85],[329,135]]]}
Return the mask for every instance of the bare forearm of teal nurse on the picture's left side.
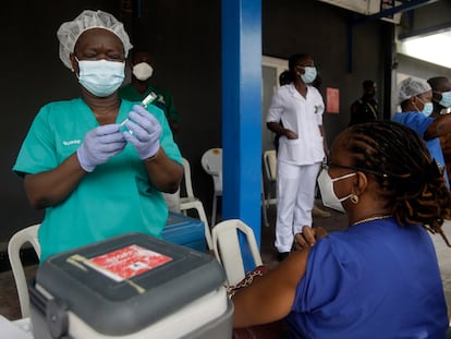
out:
{"label": "bare forearm of teal nurse on the picture's left side", "polygon": [[76,154],[50,171],[26,174],[24,187],[33,208],[41,209],[63,202],[86,174]]}

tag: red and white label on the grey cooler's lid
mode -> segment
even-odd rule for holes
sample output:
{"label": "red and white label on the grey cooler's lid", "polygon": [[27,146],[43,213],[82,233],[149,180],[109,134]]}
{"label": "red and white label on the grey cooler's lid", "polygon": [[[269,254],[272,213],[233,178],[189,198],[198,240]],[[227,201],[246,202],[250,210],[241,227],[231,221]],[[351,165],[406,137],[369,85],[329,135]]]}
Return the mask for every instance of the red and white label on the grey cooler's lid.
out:
{"label": "red and white label on the grey cooler's lid", "polygon": [[172,258],[167,255],[138,245],[130,245],[89,258],[85,264],[115,281],[122,281],[164,265],[170,261]]}

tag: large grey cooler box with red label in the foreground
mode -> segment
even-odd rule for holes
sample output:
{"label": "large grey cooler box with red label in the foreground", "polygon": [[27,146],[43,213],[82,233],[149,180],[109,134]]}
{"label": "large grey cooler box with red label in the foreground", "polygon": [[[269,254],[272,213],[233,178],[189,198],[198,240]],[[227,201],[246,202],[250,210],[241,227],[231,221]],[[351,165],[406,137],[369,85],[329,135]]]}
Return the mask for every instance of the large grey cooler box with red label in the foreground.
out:
{"label": "large grey cooler box with red label in the foreground", "polygon": [[130,233],[40,264],[29,286],[35,339],[232,338],[216,258]]}

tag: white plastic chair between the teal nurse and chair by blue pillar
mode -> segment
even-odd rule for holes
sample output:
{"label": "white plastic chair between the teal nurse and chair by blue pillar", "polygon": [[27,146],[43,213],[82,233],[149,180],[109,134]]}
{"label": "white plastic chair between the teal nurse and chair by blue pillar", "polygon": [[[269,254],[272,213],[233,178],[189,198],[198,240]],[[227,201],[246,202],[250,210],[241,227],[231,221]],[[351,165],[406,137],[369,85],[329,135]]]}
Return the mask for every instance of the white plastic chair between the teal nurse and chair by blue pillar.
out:
{"label": "white plastic chair between the teal nurse and chair by blue pillar", "polygon": [[188,209],[196,209],[197,214],[199,216],[199,219],[204,221],[205,225],[205,240],[207,242],[208,250],[212,250],[211,244],[211,232],[210,227],[208,226],[207,216],[205,214],[204,205],[197,197],[194,196],[193,193],[193,185],[191,181],[191,166],[190,161],[185,158],[182,158],[183,160],[183,169],[184,169],[184,182],[185,182],[185,192],[186,196],[180,197],[180,209],[181,211],[186,215],[186,211]]}

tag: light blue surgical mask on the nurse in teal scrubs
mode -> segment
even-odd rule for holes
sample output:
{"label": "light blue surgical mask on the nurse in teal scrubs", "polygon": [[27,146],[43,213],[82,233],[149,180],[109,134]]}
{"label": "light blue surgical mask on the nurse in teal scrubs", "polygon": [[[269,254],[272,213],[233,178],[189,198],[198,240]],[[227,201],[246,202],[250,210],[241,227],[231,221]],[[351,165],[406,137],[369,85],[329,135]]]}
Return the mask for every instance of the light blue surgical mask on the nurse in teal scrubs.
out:
{"label": "light blue surgical mask on the nurse in teal scrubs", "polygon": [[113,94],[125,77],[124,62],[101,60],[77,60],[78,82],[98,97]]}

